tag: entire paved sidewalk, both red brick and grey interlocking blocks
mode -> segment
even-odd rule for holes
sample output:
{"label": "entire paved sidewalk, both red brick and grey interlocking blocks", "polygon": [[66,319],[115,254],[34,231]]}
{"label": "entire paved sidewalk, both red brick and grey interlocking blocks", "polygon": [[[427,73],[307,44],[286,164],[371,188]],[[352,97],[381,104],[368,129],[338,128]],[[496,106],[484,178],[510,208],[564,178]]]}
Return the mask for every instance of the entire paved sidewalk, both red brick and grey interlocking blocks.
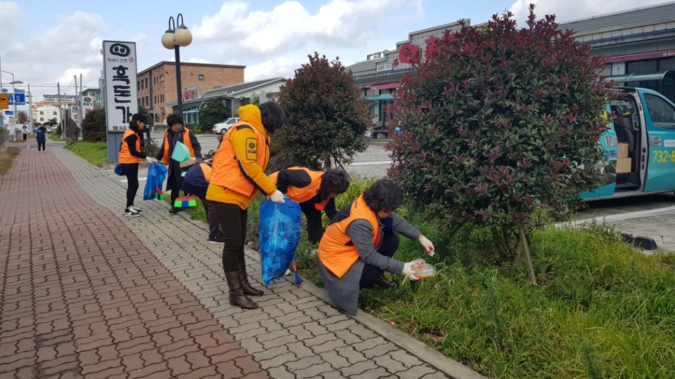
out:
{"label": "entire paved sidewalk, both red brick and grey interlocking blocks", "polygon": [[265,287],[248,248],[252,284],[265,295],[257,310],[231,307],[222,247],[207,243],[205,224],[140,197],[144,215],[124,218],[120,178],[55,148],[22,153],[1,182],[18,201],[1,208],[1,237],[12,242],[0,247],[10,275],[0,377],[55,368],[87,378],[447,377],[291,281]]}

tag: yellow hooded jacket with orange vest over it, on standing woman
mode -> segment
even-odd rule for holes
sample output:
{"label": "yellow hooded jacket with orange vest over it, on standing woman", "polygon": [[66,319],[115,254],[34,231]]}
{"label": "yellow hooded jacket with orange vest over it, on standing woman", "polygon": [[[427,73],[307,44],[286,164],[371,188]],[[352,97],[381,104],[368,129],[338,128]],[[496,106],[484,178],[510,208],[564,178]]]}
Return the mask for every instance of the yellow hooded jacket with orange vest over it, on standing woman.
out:
{"label": "yellow hooded jacket with orange vest over it, on standing woman", "polygon": [[206,199],[236,204],[242,209],[257,194],[276,191],[276,185],[264,171],[269,160],[269,136],[260,109],[255,105],[239,108],[241,121],[231,126],[213,159],[212,178]]}

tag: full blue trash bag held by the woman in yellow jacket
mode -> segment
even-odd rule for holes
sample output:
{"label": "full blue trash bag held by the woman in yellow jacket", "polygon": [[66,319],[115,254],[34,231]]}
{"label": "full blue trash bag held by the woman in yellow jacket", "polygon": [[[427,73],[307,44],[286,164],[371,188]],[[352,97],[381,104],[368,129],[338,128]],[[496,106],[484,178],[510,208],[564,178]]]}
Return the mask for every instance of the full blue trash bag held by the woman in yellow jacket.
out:
{"label": "full blue trash bag held by the woman in yellow jacket", "polygon": [[300,239],[300,204],[285,197],[285,204],[260,204],[260,260],[262,281],[281,278],[293,261]]}

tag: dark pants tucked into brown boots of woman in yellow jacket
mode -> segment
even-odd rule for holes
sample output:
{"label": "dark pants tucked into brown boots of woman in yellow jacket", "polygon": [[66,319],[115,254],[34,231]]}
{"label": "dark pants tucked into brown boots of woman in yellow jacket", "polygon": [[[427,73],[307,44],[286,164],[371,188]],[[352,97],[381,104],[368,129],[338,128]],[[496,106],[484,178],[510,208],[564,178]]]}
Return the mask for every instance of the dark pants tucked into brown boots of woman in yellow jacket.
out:
{"label": "dark pants tucked into brown boots of woman in yellow jacket", "polygon": [[236,204],[219,203],[212,201],[216,210],[220,230],[223,233],[223,270],[233,272],[238,270],[239,262],[244,262],[244,241],[246,239],[246,222],[248,211],[239,208]]}

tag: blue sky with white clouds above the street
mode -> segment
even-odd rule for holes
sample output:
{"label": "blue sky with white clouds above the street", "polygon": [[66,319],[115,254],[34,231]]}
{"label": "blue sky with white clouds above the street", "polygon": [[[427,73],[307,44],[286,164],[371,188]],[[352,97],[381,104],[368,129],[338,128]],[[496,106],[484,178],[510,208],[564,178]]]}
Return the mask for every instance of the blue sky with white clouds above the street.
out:
{"label": "blue sky with white clouds above the street", "polygon": [[[193,34],[183,62],[245,65],[245,80],[293,77],[318,51],[344,65],[392,49],[409,32],[461,18],[472,24],[507,9],[524,20],[527,4],[558,22],[636,8],[633,0],[257,0],[257,1],[3,1],[0,0],[0,69],[43,93],[75,94],[73,77],[97,87],[101,41],[134,41],[139,72],[174,52],[160,43],[169,17],[181,13]],[[640,6],[667,1],[642,0]],[[2,73],[4,87],[12,80]]]}

